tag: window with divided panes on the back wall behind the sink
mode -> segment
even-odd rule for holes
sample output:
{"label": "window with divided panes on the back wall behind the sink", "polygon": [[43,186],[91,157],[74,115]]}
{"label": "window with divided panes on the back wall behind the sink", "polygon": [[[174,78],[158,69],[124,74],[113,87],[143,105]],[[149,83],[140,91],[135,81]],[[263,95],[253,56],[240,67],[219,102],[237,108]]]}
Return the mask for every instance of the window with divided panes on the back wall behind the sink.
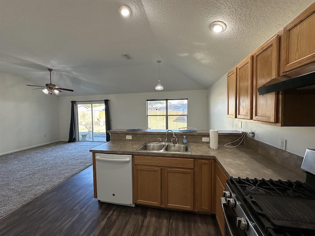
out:
{"label": "window with divided panes on the back wall behind the sink", "polygon": [[147,100],[147,124],[151,129],[187,127],[188,99]]}

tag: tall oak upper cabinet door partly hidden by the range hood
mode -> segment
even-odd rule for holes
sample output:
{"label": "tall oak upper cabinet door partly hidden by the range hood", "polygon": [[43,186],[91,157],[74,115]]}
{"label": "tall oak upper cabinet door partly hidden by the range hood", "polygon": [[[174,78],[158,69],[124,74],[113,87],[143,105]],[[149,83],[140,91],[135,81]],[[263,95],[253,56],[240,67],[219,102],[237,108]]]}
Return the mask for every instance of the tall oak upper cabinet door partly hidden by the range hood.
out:
{"label": "tall oak upper cabinet door partly hidden by the range hood", "polygon": [[278,77],[279,36],[263,44],[253,54],[253,109],[252,119],[277,122],[277,93],[259,95],[257,89]]}

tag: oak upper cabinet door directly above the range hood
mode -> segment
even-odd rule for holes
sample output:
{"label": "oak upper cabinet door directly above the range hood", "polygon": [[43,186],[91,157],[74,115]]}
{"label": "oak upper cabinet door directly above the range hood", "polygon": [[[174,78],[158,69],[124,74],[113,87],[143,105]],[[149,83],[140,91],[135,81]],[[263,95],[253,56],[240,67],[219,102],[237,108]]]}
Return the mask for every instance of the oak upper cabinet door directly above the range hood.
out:
{"label": "oak upper cabinet door directly above the range hood", "polygon": [[315,2],[284,27],[281,72],[315,61]]}

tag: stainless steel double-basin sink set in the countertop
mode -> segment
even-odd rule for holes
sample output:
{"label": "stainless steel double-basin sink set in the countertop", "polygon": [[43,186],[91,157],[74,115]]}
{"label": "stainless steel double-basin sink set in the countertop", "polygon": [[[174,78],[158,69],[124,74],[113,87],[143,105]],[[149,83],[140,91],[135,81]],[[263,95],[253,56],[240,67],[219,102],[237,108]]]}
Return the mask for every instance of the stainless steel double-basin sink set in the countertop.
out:
{"label": "stainless steel double-basin sink set in the countertop", "polygon": [[189,144],[172,144],[163,142],[145,142],[137,151],[191,153]]}

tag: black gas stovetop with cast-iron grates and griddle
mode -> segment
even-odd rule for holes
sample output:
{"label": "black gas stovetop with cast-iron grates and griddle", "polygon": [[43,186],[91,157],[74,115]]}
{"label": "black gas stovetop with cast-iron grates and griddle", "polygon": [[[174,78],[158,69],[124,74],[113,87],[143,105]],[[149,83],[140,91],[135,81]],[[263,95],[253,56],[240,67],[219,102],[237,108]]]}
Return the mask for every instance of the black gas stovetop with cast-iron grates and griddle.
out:
{"label": "black gas stovetop with cast-iron grates and griddle", "polygon": [[315,235],[315,189],[309,184],[241,177],[231,177],[226,184],[241,203],[238,207],[253,217],[252,227],[258,226],[262,235]]}

